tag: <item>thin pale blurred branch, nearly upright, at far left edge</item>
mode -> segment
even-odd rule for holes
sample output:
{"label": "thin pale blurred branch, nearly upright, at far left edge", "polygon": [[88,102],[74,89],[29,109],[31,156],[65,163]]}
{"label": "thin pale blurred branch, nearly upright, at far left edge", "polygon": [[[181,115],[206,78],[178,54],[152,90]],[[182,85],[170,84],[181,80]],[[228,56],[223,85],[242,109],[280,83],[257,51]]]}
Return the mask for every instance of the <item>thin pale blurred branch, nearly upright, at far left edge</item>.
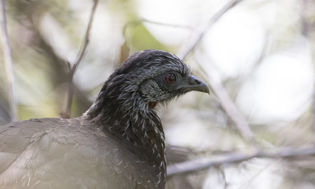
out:
{"label": "thin pale blurred branch, nearly upright, at far left edge", "polygon": [[16,108],[15,95],[14,95],[14,71],[13,71],[13,60],[12,60],[12,55],[11,55],[11,50],[10,50],[10,45],[9,45],[4,0],[1,0],[1,12],[2,12],[1,45],[3,48],[5,71],[6,71],[6,75],[8,79],[10,122],[14,122],[14,121],[17,121],[17,118],[16,118],[17,108]]}

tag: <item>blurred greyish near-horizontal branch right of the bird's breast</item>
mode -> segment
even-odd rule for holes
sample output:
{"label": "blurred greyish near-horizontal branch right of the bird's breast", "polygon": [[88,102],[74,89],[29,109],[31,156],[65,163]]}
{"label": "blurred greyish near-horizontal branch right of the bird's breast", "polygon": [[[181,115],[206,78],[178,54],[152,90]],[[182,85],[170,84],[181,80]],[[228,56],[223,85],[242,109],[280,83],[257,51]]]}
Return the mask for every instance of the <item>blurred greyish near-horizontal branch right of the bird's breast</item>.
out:
{"label": "blurred greyish near-horizontal branch right of the bird's breast", "polygon": [[167,178],[169,179],[174,175],[197,172],[224,163],[238,163],[253,158],[290,158],[303,155],[315,155],[315,147],[305,148],[301,150],[278,149],[276,152],[259,151],[250,155],[242,154],[239,152],[232,152],[223,155],[223,158],[221,155],[221,160],[217,161],[214,161],[214,158],[203,158],[169,165],[167,166]]}

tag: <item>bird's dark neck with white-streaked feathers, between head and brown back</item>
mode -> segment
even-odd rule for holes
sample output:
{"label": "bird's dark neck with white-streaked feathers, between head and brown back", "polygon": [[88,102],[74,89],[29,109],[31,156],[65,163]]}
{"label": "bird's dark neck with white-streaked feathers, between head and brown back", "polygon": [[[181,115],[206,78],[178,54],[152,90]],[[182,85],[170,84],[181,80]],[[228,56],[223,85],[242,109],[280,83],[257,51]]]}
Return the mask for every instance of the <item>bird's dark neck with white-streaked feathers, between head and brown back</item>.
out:
{"label": "bird's dark neck with white-streaked feathers, between head and brown back", "polygon": [[131,152],[152,160],[152,165],[165,163],[161,121],[137,91],[102,89],[95,103],[81,118],[117,137]]}

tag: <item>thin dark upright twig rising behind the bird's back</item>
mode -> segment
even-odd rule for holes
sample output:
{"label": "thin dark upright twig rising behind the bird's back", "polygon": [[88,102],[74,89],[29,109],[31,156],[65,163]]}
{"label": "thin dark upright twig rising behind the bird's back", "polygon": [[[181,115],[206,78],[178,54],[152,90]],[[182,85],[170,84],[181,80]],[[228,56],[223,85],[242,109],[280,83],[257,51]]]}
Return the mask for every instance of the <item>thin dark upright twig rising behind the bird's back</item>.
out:
{"label": "thin dark upright twig rising behind the bird's back", "polygon": [[[72,97],[73,97],[73,75],[77,69],[77,66],[81,62],[81,60],[85,54],[86,48],[90,42],[90,30],[92,27],[92,21],[93,21],[94,13],[95,13],[98,2],[99,2],[99,0],[93,1],[93,6],[92,6],[90,18],[89,18],[89,24],[88,24],[88,27],[87,27],[86,32],[85,32],[83,47],[81,48],[81,52],[79,51],[79,53],[77,54],[77,61],[73,65],[72,69],[70,69],[70,71],[69,71],[68,99],[67,99],[67,104],[66,104],[66,108],[65,108],[66,110],[60,113],[60,117],[62,117],[62,118],[70,118],[70,115],[71,115],[71,106],[72,106]],[[69,65],[69,63],[68,63],[68,65]]]}

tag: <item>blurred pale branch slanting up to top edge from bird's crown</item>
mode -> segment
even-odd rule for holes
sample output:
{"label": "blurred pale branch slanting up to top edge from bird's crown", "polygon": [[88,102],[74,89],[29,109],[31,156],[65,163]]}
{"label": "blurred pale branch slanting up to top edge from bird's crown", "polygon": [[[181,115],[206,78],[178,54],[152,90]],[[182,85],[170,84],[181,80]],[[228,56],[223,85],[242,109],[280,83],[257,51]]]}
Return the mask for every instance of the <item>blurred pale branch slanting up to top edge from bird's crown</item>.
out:
{"label": "blurred pale branch slanting up to top edge from bird's crown", "polygon": [[233,0],[226,5],[224,5],[215,15],[213,15],[210,20],[208,21],[208,24],[202,28],[201,30],[198,30],[194,33],[192,33],[192,36],[189,37],[190,40],[186,44],[184,44],[180,50],[177,53],[177,56],[180,59],[185,59],[186,56],[197,46],[197,44],[201,41],[203,36],[207,33],[210,26],[214,24],[226,11],[233,8],[235,5],[237,5],[242,0]]}

